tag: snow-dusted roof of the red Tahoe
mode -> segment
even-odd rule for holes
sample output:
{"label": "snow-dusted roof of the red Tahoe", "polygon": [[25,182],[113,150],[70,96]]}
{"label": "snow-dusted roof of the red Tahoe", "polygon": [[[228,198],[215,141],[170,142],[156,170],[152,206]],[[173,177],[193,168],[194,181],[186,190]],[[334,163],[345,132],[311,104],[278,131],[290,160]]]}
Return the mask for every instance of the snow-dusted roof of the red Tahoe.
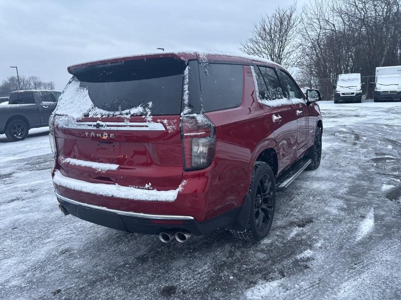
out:
{"label": "snow-dusted roof of the red Tahoe", "polygon": [[74,74],[78,69],[82,69],[88,66],[93,66],[97,64],[108,64],[117,63],[127,60],[141,59],[141,58],[158,58],[158,57],[174,57],[177,59],[182,59],[184,61],[190,59],[200,59],[200,60],[219,60],[219,61],[235,61],[243,63],[263,63],[270,64],[274,66],[282,67],[280,64],[273,62],[272,60],[250,56],[245,54],[229,53],[229,52],[219,52],[219,51],[177,51],[177,52],[153,52],[153,53],[142,53],[135,54],[131,56],[121,56],[114,58],[105,58],[100,60],[87,61],[79,64],[71,65],[67,68],[68,72]]}

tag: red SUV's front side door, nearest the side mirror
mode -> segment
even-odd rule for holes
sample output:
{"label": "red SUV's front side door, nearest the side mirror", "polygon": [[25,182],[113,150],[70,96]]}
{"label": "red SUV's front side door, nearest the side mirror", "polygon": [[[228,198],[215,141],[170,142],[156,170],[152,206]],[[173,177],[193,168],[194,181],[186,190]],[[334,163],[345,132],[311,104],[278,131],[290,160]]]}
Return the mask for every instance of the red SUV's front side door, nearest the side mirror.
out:
{"label": "red SUV's front side door, nearest the side mirror", "polygon": [[308,110],[303,93],[292,77],[283,70],[279,71],[281,82],[288,93],[292,104],[293,115],[297,118],[297,157],[301,156],[308,144]]}

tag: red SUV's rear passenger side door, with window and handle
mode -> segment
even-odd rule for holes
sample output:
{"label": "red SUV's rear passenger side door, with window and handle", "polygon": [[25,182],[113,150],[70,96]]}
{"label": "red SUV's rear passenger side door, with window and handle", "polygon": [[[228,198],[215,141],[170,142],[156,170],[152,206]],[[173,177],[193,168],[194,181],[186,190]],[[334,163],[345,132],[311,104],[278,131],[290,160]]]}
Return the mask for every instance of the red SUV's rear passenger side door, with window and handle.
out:
{"label": "red SUV's rear passenger side door, with window and handle", "polygon": [[259,96],[265,105],[268,117],[272,119],[272,129],[279,149],[279,172],[295,160],[297,150],[297,118],[293,108],[272,67],[257,66],[255,73],[259,86]]}

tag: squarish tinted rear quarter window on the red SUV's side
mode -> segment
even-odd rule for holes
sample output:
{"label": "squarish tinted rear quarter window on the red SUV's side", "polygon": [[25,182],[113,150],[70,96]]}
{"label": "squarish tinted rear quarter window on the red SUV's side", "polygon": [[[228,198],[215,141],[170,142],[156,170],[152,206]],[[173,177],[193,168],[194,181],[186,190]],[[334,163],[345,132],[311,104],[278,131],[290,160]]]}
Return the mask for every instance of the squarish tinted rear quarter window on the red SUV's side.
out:
{"label": "squarish tinted rear quarter window on the red SUV's side", "polygon": [[243,65],[199,64],[200,91],[204,111],[238,107],[242,103]]}

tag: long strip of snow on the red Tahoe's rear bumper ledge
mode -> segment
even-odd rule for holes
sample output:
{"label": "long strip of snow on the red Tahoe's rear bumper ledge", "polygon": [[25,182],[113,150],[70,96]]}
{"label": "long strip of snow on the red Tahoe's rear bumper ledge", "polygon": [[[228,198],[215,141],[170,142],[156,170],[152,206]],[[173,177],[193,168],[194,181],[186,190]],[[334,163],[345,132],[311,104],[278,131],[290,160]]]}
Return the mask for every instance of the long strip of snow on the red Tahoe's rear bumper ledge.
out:
{"label": "long strip of snow on the red Tahoe's rear bumper ledge", "polygon": [[64,176],[59,170],[55,170],[53,182],[57,185],[101,196],[117,197],[142,201],[172,202],[182,190],[185,181],[178,188],[171,190],[147,190],[118,184],[92,183]]}

